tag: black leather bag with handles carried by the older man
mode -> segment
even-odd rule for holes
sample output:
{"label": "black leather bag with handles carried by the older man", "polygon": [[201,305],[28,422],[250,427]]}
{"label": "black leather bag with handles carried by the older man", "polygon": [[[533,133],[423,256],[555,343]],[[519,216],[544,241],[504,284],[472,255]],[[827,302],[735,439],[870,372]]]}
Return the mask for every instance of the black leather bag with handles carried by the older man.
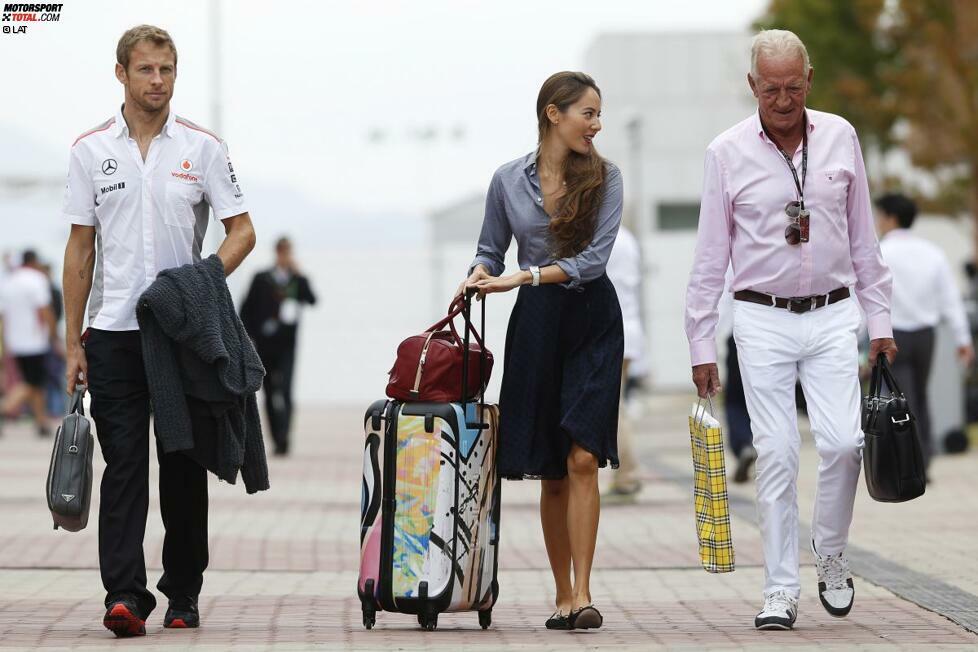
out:
{"label": "black leather bag with handles carried by the older man", "polygon": [[[883,391],[884,384],[888,392]],[[926,481],[917,420],[883,354],[873,367],[862,416],[866,439],[863,465],[869,495],[884,503],[922,496]]]}

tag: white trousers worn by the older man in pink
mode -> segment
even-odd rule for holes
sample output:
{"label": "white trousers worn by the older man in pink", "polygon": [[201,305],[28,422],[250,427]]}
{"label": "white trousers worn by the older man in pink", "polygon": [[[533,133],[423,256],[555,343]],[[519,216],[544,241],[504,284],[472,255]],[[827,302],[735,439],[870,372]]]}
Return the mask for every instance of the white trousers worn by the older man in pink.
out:
{"label": "white trousers worn by the older man in pink", "polygon": [[795,382],[808,403],[818,483],[812,540],[823,555],[849,538],[859,481],[860,324],[855,299],[804,314],[734,301],[734,339],[757,450],[757,513],[764,545],[764,595],[798,598],[798,454]]}

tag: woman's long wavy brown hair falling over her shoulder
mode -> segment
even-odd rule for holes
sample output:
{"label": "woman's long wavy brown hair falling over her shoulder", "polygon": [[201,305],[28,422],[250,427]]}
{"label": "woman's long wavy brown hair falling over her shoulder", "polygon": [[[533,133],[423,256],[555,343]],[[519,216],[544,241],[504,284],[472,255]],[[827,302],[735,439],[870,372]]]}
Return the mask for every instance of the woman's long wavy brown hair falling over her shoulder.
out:
{"label": "woman's long wavy brown hair falling over her shoulder", "polygon": [[[537,96],[539,143],[543,143],[553,128],[547,107],[553,104],[563,113],[589,88],[601,97],[601,89],[583,72],[558,72],[543,82]],[[576,256],[594,238],[598,208],[604,196],[604,159],[593,145],[587,154],[571,151],[564,159],[563,172],[566,187],[550,218],[551,247],[557,258]]]}

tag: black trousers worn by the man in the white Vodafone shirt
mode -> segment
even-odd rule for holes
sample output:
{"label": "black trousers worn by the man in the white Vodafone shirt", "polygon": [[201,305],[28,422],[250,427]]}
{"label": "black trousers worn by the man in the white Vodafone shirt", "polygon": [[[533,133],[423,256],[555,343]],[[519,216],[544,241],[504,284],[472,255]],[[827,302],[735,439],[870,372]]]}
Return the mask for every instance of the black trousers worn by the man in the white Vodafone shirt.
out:
{"label": "black trousers worn by the man in the white Vodafone shirt", "polygon": [[[145,618],[156,606],[146,588],[143,537],[149,509],[150,398],[139,331],[89,329],[88,359],[92,417],[105,473],[99,502],[99,570],[108,605],[121,597],[136,600]],[[211,417],[194,414],[194,432],[216,430]],[[163,453],[160,511],[163,576],[157,588],[168,598],[196,597],[207,568],[207,471],[181,453]]]}

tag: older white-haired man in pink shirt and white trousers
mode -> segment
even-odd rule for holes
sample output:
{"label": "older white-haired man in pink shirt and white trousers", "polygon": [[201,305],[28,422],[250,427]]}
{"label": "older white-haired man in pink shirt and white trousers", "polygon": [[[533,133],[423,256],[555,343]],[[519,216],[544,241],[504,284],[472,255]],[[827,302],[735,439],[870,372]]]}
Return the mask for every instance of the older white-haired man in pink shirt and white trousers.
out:
{"label": "older white-haired man in pink shirt and white trousers", "polygon": [[800,378],[820,458],[812,548],[819,598],[833,616],[854,598],[845,547],[862,456],[857,331],[866,313],[870,358],[896,354],[890,272],[873,228],[856,132],[806,109],[813,69],[793,33],[759,33],[748,83],[757,113],[707,148],[686,335],[701,397],[720,390],[715,332],[724,273],[733,267],[734,339],[757,450],[764,546],[758,629],[791,629],[798,573]]}

